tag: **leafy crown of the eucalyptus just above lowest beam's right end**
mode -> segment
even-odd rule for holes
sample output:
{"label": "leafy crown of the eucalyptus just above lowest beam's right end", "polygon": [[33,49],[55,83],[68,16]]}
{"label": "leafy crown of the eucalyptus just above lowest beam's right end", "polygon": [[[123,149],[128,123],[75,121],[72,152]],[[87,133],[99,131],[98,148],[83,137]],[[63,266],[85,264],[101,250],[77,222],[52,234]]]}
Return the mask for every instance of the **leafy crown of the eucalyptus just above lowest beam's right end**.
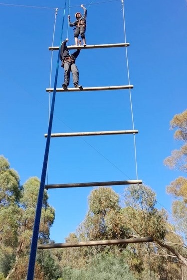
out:
{"label": "leafy crown of the eucalyptus just above lowest beam's right end", "polygon": [[167,216],[164,210],[155,208],[155,192],[145,185],[131,185],[125,189],[124,197],[124,219],[134,234],[164,240]]}

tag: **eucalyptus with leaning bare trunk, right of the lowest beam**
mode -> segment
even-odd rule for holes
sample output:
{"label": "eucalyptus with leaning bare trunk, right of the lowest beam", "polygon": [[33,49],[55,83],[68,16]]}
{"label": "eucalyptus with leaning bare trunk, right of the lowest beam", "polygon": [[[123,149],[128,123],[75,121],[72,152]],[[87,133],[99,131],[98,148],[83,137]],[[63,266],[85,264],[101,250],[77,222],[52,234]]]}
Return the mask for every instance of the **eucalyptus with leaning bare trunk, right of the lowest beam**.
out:
{"label": "eucalyptus with leaning bare trunk, right of the lowest beam", "polygon": [[[155,244],[164,248],[164,254],[187,267],[187,250],[182,237],[168,222],[166,211],[156,208],[156,194],[147,186],[132,185],[124,192],[124,219],[137,237],[153,237]],[[158,252],[158,249],[153,249]]]}

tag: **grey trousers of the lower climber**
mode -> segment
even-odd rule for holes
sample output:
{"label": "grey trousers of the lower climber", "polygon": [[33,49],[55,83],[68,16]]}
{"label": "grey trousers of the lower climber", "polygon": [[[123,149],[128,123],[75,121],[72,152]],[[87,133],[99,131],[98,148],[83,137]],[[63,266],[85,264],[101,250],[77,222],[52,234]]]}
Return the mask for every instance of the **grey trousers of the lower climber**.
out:
{"label": "grey trousers of the lower climber", "polygon": [[73,84],[74,86],[79,83],[79,71],[75,63],[70,63],[68,61],[64,62],[64,84],[69,86],[70,72],[72,72],[73,76]]}

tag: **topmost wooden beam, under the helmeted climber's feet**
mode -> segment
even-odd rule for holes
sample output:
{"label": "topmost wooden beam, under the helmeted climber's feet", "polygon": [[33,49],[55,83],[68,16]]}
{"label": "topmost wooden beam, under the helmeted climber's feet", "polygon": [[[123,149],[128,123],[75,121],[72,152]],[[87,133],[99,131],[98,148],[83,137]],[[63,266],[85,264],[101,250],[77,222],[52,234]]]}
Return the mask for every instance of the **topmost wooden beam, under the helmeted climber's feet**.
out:
{"label": "topmost wooden beam, under the helmeted climber's feet", "polygon": [[[84,46],[67,46],[68,49],[96,49],[96,48],[115,48],[115,47],[129,47],[129,43],[118,43],[118,44],[101,44],[101,45],[86,45]],[[49,47],[49,50],[59,50],[58,47]]]}

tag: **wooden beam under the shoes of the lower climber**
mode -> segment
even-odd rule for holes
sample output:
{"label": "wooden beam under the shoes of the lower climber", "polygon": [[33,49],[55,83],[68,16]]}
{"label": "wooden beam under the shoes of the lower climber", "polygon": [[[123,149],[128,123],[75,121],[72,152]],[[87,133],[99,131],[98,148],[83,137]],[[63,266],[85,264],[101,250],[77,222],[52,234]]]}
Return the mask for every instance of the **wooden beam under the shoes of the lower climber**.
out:
{"label": "wooden beam under the shoes of the lower climber", "polygon": [[[67,90],[64,90],[63,88],[57,88],[56,92],[64,91],[95,91],[95,90],[123,90],[123,89],[133,89],[133,85],[125,85],[125,86],[106,86],[106,87],[85,87],[82,88],[82,90],[78,88],[68,88]],[[53,88],[47,88],[46,92],[53,92]]]}

